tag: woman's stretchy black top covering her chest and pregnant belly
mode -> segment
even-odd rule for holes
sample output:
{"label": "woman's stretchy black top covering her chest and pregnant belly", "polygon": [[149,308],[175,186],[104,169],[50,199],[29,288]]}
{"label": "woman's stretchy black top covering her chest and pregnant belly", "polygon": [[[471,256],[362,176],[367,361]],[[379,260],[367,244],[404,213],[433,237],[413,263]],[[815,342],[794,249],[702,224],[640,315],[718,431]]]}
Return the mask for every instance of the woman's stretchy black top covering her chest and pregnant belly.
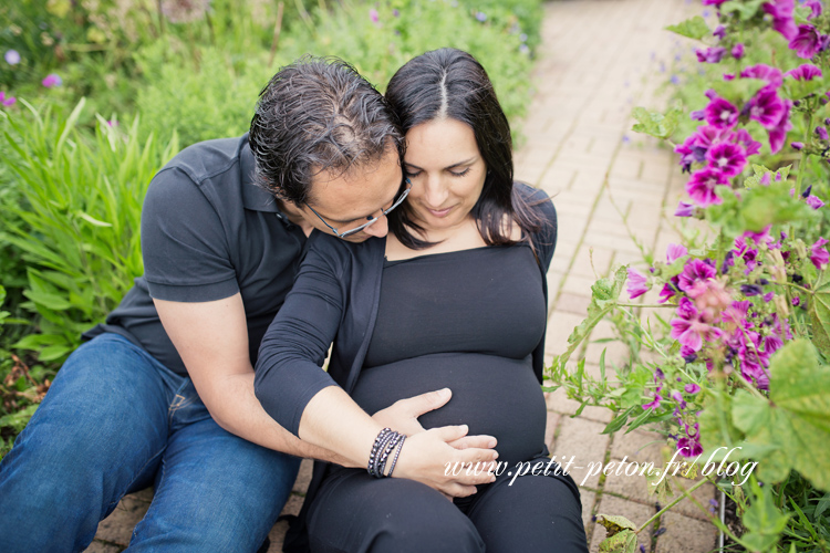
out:
{"label": "woman's stretchy black top covering her chest and pregnant belly", "polygon": [[[544,397],[531,353],[544,333],[541,275],[528,246],[386,262],[377,322],[352,398],[369,414],[447,387],[424,428],[469,425],[513,465],[544,446]],[[483,408],[486,406],[486,408]]]}

